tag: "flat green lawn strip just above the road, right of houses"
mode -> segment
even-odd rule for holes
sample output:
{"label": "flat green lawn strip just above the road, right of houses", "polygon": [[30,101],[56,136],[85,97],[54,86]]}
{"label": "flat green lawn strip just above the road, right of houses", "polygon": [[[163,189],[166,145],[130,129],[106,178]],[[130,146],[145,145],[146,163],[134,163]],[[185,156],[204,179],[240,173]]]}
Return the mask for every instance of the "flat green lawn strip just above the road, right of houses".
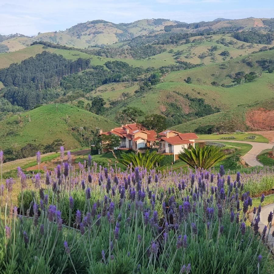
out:
{"label": "flat green lawn strip just above the road, right of houses", "polygon": [[[254,133],[244,133],[244,134],[237,134],[237,133],[229,133],[229,134],[221,134],[221,135],[217,135],[217,134],[202,134],[202,135],[198,135],[200,140],[219,140],[219,141],[223,141],[223,139],[221,138],[227,138],[230,136],[234,136],[236,137],[236,139],[234,139],[233,141],[247,141],[247,142],[262,142],[262,143],[268,143],[269,140],[266,139],[264,136],[262,135],[256,135],[255,139],[246,139],[246,137],[248,136],[254,136]],[[233,143],[232,143],[233,145]]]}

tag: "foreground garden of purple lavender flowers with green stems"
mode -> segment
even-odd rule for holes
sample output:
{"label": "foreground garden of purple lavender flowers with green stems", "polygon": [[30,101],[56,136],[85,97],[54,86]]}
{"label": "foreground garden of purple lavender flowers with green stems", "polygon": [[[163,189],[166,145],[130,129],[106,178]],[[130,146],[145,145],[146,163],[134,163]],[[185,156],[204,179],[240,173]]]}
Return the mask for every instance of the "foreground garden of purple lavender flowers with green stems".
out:
{"label": "foreground garden of purple lavender flowers with green stems", "polygon": [[41,173],[37,153],[38,171],[5,186],[1,172],[1,273],[272,273],[273,214],[262,234],[258,223],[273,169],[121,171],[91,156],[76,167],[63,149],[60,160]]}

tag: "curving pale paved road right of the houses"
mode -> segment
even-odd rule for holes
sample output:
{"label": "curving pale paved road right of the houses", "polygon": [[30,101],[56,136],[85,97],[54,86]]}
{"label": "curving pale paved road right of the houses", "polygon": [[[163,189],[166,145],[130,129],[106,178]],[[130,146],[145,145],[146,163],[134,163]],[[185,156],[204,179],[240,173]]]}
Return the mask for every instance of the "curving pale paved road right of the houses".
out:
{"label": "curving pale paved road right of the houses", "polygon": [[[200,140],[199,140],[200,141]],[[251,167],[255,166],[263,166],[256,157],[258,154],[262,152],[264,149],[271,149],[272,144],[267,143],[259,143],[259,142],[247,142],[247,141],[232,141],[232,140],[201,140],[201,141],[209,141],[209,142],[233,142],[233,143],[245,143],[252,146],[252,149],[248,151],[243,157],[244,161]]]}

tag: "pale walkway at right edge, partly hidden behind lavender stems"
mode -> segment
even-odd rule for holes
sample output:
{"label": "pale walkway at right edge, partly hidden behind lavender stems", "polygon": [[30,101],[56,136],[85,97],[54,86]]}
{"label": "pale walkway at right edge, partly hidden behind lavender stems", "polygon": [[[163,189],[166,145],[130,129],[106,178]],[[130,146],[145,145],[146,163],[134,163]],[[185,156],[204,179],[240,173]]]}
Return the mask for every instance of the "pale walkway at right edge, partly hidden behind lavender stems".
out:
{"label": "pale walkway at right edge, partly hidden behind lavender stems", "polygon": [[[268,215],[270,213],[270,211],[274,211],[274,203],[273,204],[269,204],[267,206],[263,206],[262,209],[261,209],[261,213],[260,213],[260,221],[259,221],[259,233],[260,235],[262,235],[262,231],[264,229],[265,226],[267,226],[268,224],[268,221],[267,221],[267,218],[268,218]],[[253,218],[253,213],[249,213],[249,220],[252,221],[252,218]],[[266,232],[268,232],[268,229],[269,227],[267,227],[267,230]],[[274,246],[274,237],[272,237],[272,232],[274,230],[274,218],[272,219],[272,227],[270,229],[270,232],[269,232],[269,236],[268,236],[268,246],[271,250],[271,252],[274,254],[274,248],[272,248],[272,244]]]}

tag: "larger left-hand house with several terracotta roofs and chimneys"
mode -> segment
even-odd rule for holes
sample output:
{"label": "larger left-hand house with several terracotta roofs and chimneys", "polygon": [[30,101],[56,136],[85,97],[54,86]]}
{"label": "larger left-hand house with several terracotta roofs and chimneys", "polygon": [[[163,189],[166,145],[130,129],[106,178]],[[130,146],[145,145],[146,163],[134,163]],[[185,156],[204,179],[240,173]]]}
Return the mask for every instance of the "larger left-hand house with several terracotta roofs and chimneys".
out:
{"label": "larger left-hand house with several terracotta roofs and chimneys", "polygon": [[157,133],[154,130],[140,129],[137,124],[121,125],[121,127],[113,128],[108,132],[103,132],[100,130],[99,135],[102,134],[115,134],[120,137],[120,146],[115,149],[132,149],[136,152],[148,147],[153,147],[157,137]]}

